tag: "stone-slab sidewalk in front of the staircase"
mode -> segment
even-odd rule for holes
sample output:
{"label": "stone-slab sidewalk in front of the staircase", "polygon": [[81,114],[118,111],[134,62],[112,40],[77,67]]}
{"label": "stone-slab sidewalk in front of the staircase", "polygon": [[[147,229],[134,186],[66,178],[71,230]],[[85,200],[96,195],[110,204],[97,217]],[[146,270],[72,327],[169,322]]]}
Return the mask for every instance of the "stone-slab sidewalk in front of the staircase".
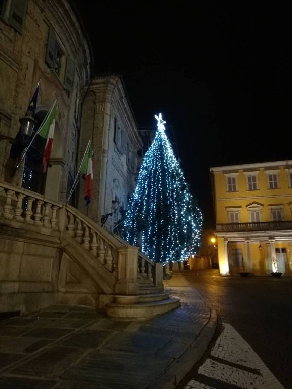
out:
{"label": "stone-slab sidewalk in front of the staircase", "polygon": [[0,389],[172,389],[206,351],[216,314],[180,274],[172,312],[117,322],[56,305],[0,322]]}

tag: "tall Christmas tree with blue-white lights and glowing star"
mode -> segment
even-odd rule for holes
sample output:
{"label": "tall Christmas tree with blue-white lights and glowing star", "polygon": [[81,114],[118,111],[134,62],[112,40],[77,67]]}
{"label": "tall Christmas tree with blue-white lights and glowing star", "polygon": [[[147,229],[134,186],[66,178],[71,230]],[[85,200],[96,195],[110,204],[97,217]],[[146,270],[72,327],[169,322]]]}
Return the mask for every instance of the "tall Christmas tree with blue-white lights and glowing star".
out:
{"label": "tall Christmas tree with blue-white lights and glowing star", "polygon": [[155,262],[182,261],[199,246],[202,214],[165,134],[161,116],[123,225],[125,240]]}

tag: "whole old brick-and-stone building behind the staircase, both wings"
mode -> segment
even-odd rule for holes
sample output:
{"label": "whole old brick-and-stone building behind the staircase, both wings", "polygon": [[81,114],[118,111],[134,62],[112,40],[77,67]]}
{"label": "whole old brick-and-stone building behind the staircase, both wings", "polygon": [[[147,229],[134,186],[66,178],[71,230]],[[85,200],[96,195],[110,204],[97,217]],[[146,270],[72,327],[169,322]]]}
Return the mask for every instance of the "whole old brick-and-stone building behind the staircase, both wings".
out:
{"label": "whole old brick-and-stone building behind the staircase, both wings", "polygon": [[[68,0],[0,0],[0,5],[0,180],[65,202],[91,138],[94,198],[85,207],[81,180],[70,203],[113,229],[134,190],[143,154],[122,79],[93,78],[90,42]],[[41,159],[36,167],[26,162],[32,182],[25,186],[25,167],[11,177],[7,161],[38,80],[36,120],[40,125],[57,99],[56,128],[47,173]]]}

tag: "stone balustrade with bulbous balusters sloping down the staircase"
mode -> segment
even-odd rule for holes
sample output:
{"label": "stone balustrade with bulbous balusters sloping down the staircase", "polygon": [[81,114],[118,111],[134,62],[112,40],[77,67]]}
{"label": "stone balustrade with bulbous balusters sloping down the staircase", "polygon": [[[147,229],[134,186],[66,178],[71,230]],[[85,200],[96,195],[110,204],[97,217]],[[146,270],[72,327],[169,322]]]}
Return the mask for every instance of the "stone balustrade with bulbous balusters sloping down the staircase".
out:
{"label": "stone balustrade with bulbous balusters sloping down the staircase", "polygon": [[116,279],[116,294],[137,294],[141,279],[162,285],[161,264],[155,264],[138,252],[138,247],[128,245],[74,207],[0,182],[0,219],[10,227],[59,237],[60,245],[64,234],[66,241],[74,239]]}

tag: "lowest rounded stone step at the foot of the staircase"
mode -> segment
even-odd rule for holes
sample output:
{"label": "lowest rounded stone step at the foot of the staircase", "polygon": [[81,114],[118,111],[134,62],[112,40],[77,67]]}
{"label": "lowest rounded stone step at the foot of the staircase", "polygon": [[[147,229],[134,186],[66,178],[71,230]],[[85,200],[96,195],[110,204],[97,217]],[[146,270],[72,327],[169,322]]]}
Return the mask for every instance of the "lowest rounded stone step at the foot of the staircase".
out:
{"label": "lowest rounded stone step at the foot of the staircase", "polygon": [[179,301],[180,299],[177,297],[170,297],[162,301],[136,304],[113,302],[106,305],[106,314],[118,321],[147,320],[177,308],[180,304]]}

